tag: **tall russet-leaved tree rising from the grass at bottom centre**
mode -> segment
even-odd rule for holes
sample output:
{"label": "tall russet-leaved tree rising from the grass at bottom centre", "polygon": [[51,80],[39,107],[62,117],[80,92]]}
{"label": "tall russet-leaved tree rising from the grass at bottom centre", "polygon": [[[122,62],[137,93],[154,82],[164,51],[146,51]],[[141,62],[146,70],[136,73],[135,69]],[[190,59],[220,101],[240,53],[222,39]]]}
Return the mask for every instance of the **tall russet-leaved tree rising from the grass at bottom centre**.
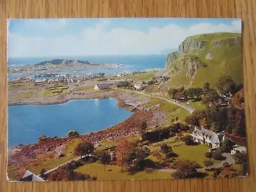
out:
{"label": "tall russet-leaved tree rising from the grass at bottom centre", "polygon": [[116,162],[121,166],[121,170],[123,171],[123,166],[127,164],[127,159],[129,152],[132,148],[134,148],[134,143],[131,143],[127,140],[120,140],[116,145]]}

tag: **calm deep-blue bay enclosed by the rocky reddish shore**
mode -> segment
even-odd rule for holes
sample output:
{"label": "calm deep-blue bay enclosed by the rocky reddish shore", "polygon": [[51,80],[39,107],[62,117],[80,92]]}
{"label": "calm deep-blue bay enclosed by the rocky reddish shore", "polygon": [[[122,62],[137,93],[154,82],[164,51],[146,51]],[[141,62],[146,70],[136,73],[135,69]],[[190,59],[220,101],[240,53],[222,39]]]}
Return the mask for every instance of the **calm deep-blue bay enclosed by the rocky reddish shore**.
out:
{"label": "calm deep-blue bay enclosed by the rocky reddish shore", "polygon": [[38,136],[67,136],[99,131],[118,124],[132,115],[116,108],[117,100],[70,100],[65,104],[8,107],[8,146],[35,143]]}

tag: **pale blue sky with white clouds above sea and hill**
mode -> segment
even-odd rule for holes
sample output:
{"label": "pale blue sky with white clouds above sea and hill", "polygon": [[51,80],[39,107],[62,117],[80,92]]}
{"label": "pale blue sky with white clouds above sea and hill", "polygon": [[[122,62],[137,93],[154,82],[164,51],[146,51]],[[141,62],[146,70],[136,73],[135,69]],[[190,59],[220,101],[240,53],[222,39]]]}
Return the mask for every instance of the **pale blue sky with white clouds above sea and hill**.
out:
{"label": "pale blue sky with white clouds above sea and hill", "polygon": [[12,19],[11,57],[152,54],[175,49],[187,36],[241,33],[239,19]]}

